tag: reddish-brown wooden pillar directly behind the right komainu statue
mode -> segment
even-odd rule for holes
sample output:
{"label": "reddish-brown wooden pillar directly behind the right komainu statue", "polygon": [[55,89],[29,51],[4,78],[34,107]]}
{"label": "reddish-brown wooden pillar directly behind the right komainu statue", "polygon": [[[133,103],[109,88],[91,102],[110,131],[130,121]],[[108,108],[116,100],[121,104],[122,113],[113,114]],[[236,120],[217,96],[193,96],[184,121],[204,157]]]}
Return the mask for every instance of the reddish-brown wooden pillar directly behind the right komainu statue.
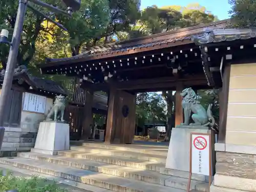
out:
{"label": "reddish-brown wooden pillar directly behind the right komainu statue", "polygon": [[182,109],[182,96],[180,95],[183,90],[181,82],[177,83],[176,96],[175,96],[175,126],[183,123],[183,109]]}

